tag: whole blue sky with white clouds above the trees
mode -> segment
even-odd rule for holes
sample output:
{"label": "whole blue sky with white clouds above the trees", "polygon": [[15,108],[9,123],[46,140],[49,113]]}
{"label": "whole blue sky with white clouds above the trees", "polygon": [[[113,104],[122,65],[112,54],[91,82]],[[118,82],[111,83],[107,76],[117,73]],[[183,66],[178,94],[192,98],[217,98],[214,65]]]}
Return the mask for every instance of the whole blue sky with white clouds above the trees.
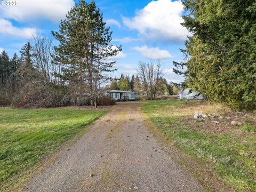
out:
{"label": "whole blue sky with white clouds above the trees", "polygon": [[[0,0],[1,2],[2,0]],[[14,0],[13,0],[14,1]],[[10,57],[34,34],[51,35],[77,0],[16,0],[18,5],[0,5],[0,52]],[[6,1],[5,1],[6,2]],[[182,22],[180,1],[97,0],[96,5],[113,31],[113,45],[123,51],[115,59],[118,70],[113,76],[135,74],[139,61],[161,59],[167,81],[180,82],[183,77],[172,71],[172,61],[183,59],[179,49],[189,35]],[[56,44],[58,42],[55,42]]]}

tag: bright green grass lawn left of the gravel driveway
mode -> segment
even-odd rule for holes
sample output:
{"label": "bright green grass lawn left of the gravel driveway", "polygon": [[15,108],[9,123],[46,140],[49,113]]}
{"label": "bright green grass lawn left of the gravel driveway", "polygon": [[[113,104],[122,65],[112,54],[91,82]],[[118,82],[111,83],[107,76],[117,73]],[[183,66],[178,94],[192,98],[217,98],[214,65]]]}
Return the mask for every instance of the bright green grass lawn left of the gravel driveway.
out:
{"label": "bright green grass lawn left of the gravel driveway", "polygon": [[22,187],[22,180],[46,155],[105,113],[70,108],[0,108],[0,191]]}

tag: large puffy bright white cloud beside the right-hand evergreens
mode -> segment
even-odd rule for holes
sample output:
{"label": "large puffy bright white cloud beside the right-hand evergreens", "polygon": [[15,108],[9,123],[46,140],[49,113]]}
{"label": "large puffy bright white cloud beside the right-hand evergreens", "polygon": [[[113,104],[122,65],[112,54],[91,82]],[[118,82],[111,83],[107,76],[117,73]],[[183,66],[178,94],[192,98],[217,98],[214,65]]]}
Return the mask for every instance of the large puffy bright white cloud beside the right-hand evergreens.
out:
{"label": "large puffy bright white cloud beside the right-hand evergreens", "polygon": [[135,13],[132,19],[122,17],[124,25],[137,29],[146,40],[184,41],[188,30],[181,26],[183,5],[181,1],[151,1]]}

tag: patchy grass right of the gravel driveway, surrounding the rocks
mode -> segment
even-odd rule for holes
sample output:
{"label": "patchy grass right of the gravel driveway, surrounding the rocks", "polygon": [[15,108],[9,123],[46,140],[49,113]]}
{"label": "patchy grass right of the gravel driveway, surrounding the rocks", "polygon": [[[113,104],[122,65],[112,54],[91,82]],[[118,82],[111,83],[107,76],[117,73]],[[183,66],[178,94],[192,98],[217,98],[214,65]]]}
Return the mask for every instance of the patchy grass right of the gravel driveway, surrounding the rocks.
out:
{"label": "patchy grass right of the gravel driveway, surrounding the rocks", "polygon": [[[149,101],[142,109],[182,154],[196,159],[227,186],[256,191],[255,113],[235,113],[196,100]],[[194,111],[218,113],[223,119],[194,119]],[[231,125],[235,119],[243,124]]]}

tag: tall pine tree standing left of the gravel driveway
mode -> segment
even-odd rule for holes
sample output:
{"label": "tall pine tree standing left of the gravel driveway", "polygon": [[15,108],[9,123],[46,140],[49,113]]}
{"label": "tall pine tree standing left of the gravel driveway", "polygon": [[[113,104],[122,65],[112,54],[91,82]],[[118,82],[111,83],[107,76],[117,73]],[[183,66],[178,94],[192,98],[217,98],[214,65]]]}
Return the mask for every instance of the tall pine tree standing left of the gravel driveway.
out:
{"label": "tall pine tree standing left of the gravel driveway", "polygon": [[57,75],[67,83],[88,87],[85,92],[97,107],[100,84],[110,79],[105,72],[116,70],[112,68],[116,62],[107,59],[122,49],[110,45],[112,32],[95,2],[76,3],[61,21],[59,32],[52,34],[60,42],[54,47],[53,61],[63,66],[63,74]]}

